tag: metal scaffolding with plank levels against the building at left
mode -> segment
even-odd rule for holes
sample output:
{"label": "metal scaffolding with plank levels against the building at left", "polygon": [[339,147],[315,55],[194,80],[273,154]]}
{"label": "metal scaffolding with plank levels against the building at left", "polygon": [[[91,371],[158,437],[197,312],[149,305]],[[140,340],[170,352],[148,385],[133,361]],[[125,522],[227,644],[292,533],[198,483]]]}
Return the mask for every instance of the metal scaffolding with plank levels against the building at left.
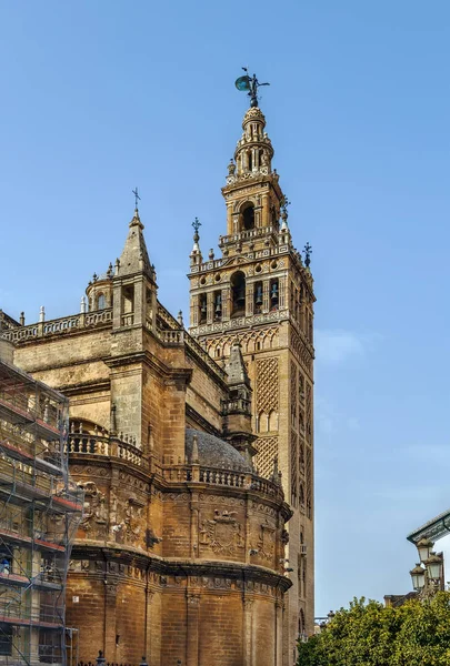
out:
{"label": "metal scaffolding with plank levels against the building at left", "polygon": [[82,513],[68,401],[0,361],[0,665],[66,664],[66,579]]}

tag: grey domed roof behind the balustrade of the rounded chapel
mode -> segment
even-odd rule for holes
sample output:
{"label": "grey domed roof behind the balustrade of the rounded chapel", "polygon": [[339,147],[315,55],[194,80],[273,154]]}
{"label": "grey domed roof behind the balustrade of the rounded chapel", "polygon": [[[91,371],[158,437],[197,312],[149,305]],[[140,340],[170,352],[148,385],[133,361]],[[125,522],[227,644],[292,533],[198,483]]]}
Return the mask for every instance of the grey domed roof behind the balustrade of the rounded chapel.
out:
{"label": "grey domed roof behind the balustrade of the rounded chapel", "polygon": [[208,467],[223,467],[226,470],[239,470],[240,472],[251,472],[251,465],[242,455],[228,442],[214,437],[208,433],[202,433],[193,428],[186,428],[186,457],[192,461],[197,457],[193,445],[193,437],[197,435],[198,461],[200,465]]}

